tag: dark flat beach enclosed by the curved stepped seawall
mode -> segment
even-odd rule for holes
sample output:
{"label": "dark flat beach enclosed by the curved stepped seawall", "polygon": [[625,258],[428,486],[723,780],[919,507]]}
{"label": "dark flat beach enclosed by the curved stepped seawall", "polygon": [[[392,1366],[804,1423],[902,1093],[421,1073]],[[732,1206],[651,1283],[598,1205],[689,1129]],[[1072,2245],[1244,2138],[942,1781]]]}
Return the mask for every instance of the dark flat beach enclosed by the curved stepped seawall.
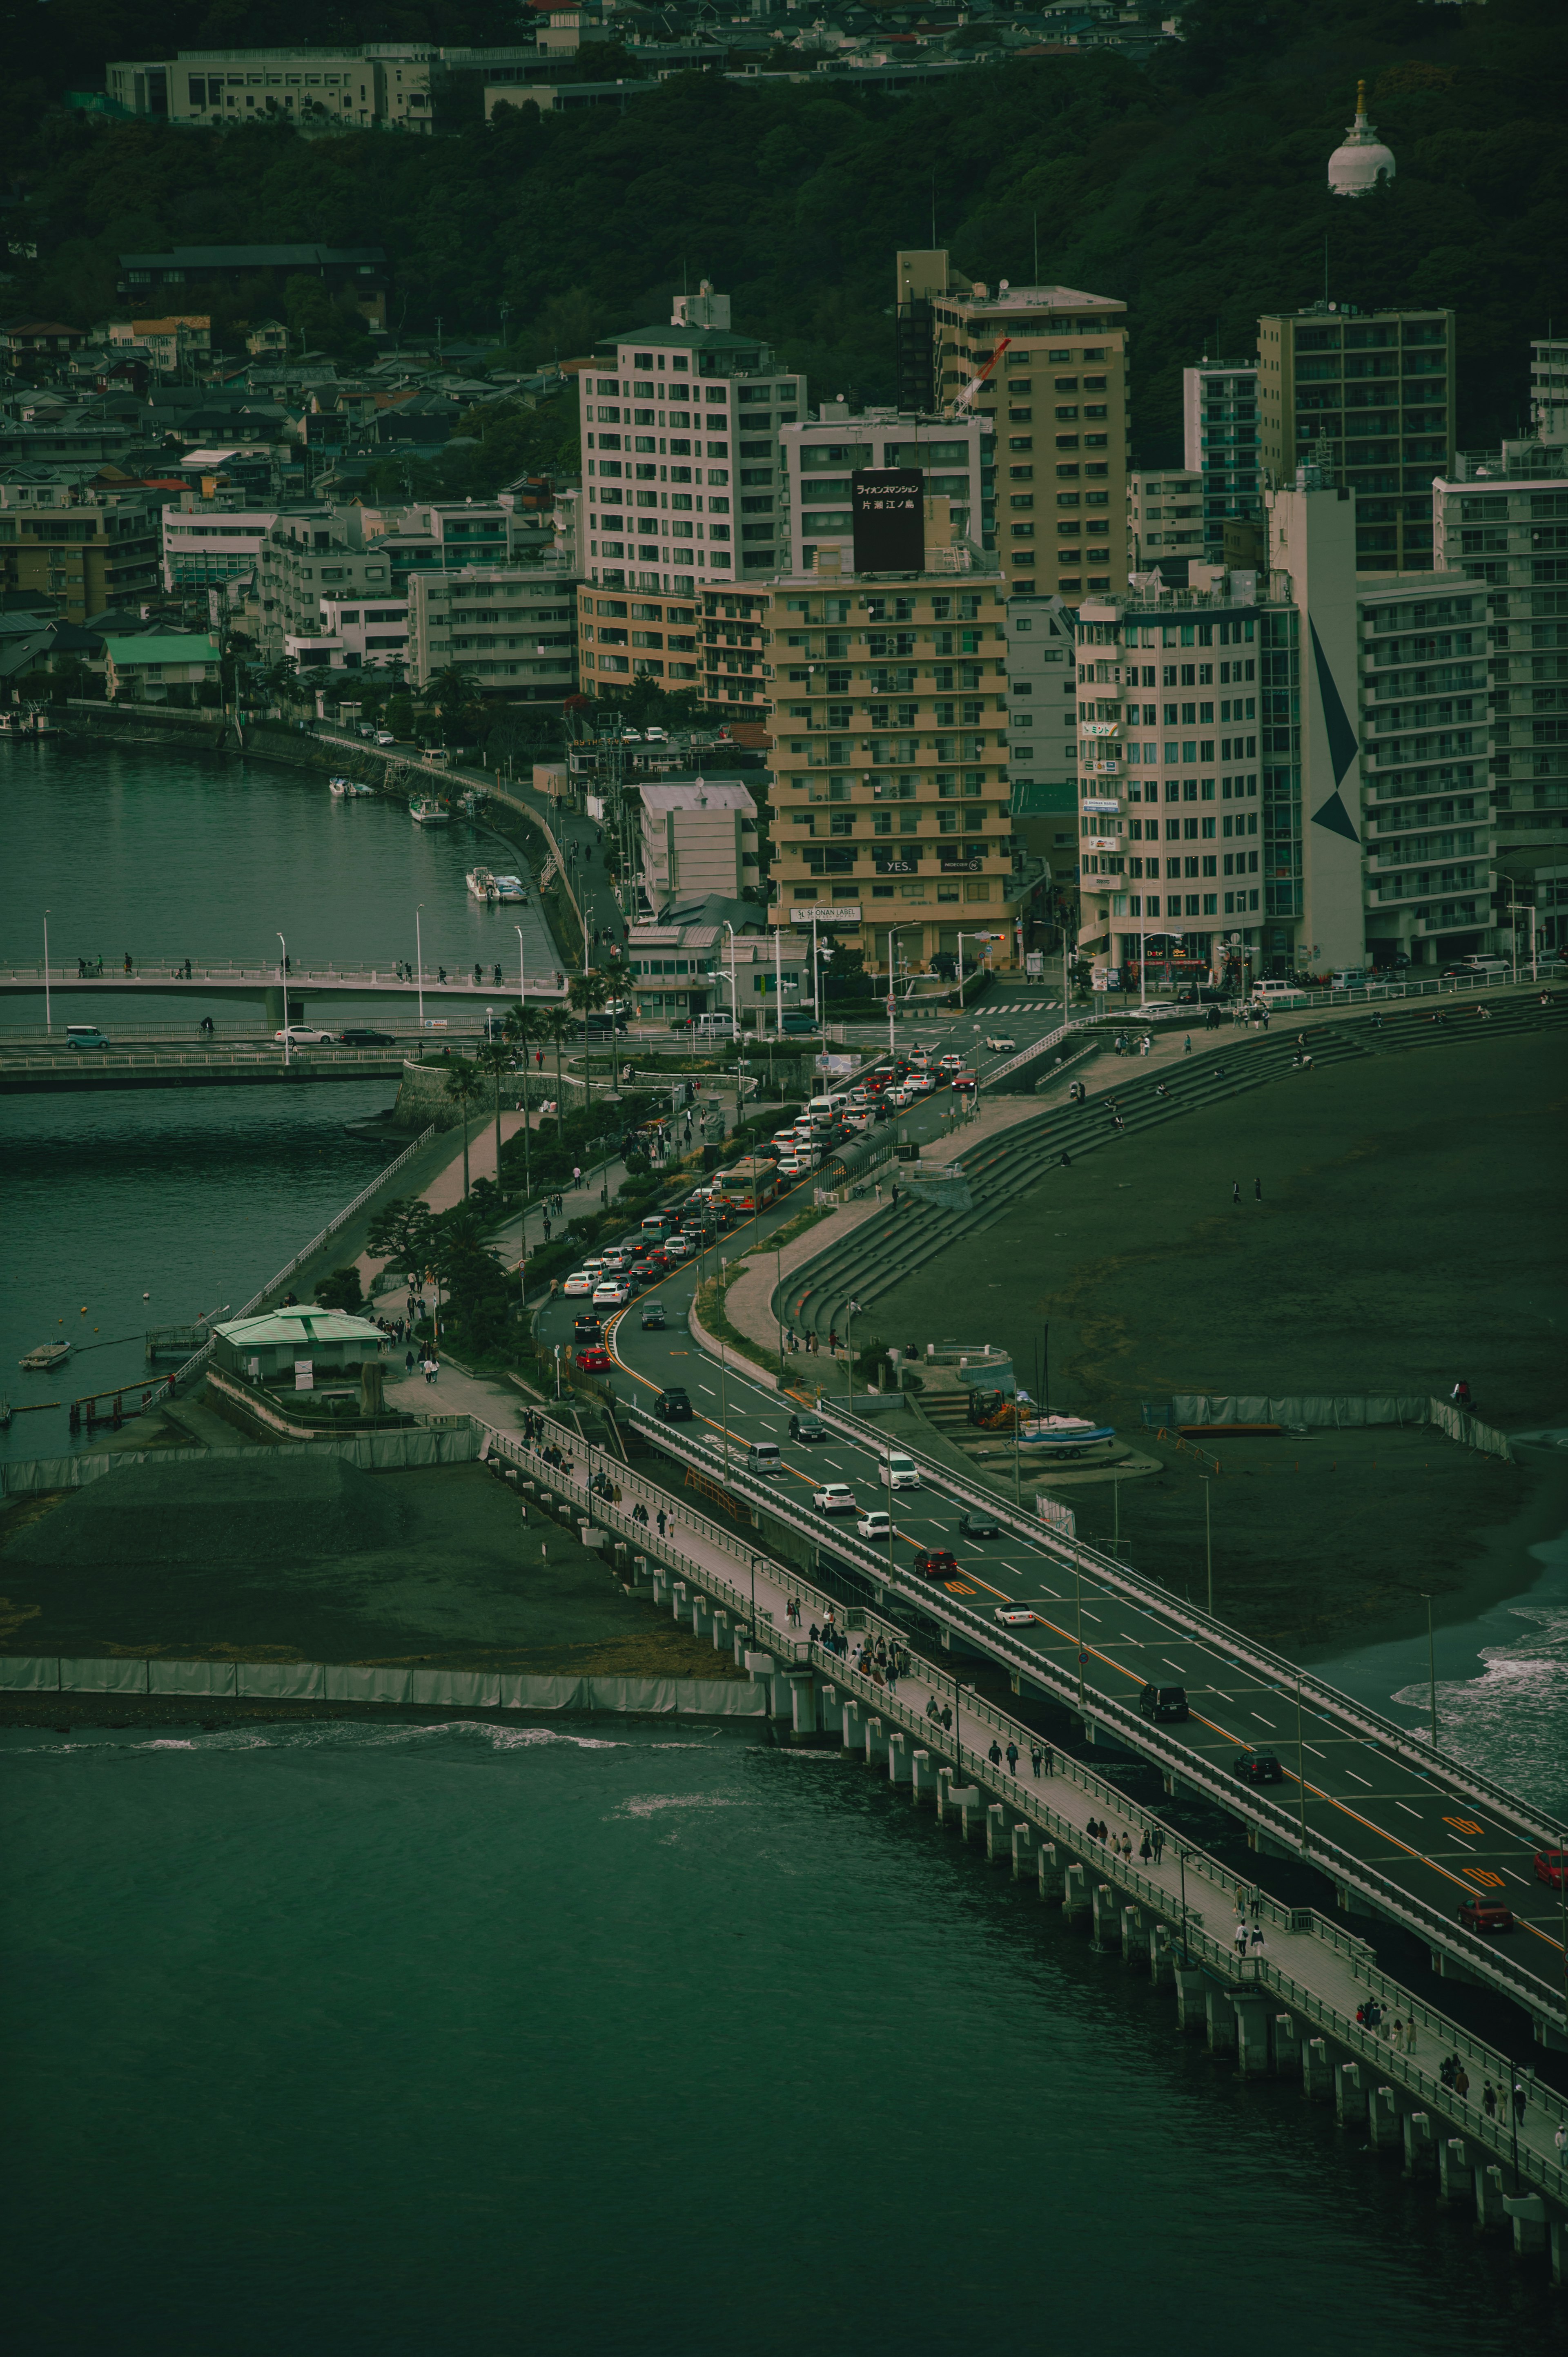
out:
{"label": "dark flat beach enclosed by the curved stepped seawall", "polygon": [[[1561,1162],[1568,1084],[1540,1037],[1290,1075],[1059,1169],[983,1237],[877,1306],[894,1341],[1014,1353],[1035,1391],[1139,1445],[1172,1393],[1429,1393],[1467,1376],[1504,1428],[1561,1421]],[[1254,1200],[1261,1181],[1261,1204]],[[1231,1188],[1240,1183],[1243,1202]],[[955,1303],[967,1303],[960,1315]],[[1122,1485],[1122,1553],[1205,1596],[1200,1466]],[[1561,1527],[1561,1475],[1434,1431],[1228,1442],[1212,1483],[1217,1610],[1292,1645],[1521,1586]],[[1009,1468],[1012,1478],[1012,1468]],[[1063,1490],[1063,1497],[1068,1492]],[[1111,1537],[1108,1487],[1073,1487]]]}

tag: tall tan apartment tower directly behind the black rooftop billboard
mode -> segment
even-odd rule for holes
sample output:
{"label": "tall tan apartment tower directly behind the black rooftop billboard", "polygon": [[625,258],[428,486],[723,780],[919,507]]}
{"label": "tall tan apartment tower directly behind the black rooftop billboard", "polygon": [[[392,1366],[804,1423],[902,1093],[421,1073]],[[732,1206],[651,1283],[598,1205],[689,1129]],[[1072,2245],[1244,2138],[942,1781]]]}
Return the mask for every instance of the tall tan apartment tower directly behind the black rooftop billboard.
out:
{"label": "tall tan apartment tower directly behind the black rooftop billboard", "polygon": [[1007,585],[1023,596],[1070,601],[1120,587],[1127,575],[1127,304],[1056,285],[1000,280],[993,290],[955,271],[946,252],[901,252],[898,309],[910,304],[929,309],[941,410],[950,410],[995,361],[964,405],[988,417],[997,436],[995,530]]}

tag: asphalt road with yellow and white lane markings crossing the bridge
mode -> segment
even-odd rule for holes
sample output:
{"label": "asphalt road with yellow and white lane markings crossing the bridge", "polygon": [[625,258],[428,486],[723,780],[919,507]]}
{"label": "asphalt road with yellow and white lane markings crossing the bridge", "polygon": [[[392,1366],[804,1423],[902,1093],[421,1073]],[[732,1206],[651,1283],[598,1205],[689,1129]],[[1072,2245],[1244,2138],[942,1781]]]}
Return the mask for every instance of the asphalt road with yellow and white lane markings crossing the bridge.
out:
{"label": "asphalt road with yellow and white lane markings crossing the bridge", "polygon": [[[1045,1018],[1042,1018],[1045,1021]],[[1021,1023],[1009,1025],[1021,1037]],[[960,1042],[962,1044],[962,1042]],[[927,1098],[910,1127],[941,1129],[943,1096]],[[764,1211],[755,1223],[726,1237],[726,1254],[766,1235],[790,1219],[792,1195]],[[783,1483],[795,1504],[809,1506],[821,1480],[844,1480],[861,1508],[887,1504],[875,1442],[830,1438],[802,1447],[788,1438],[790,1398],[778,1398],[750,1381],[743,1362],[731,1360],[724,1376],[686,1329],[686,1310],[696,1294],[696,1270],[672,1270],[639,1299],[665,1303],[667,1329],[641,1332],[634,1301],[611,1327],[611,1351],[625,1376],[651,1400],[667,1384],[684,1384],[698,1419],[736,1447],[750,1440],[776,1440],[783,1454]],[[545,1313],[552,1339],[568,1341],[575,1303],[554,1303]],[[802,1393],[806,1367],[835,1388],[832,1362],[802,1358]],[[1028,1494],[1028,1492],[1026,1492]],[[1106,1589],[1092,1570],[1075,1582],[1073,1570],[1047,1546],[1030,1546],[1004,1534],[971,1541],[960,1532],[964,1506],[948,1497],[941,1480],[920,1492],[901,1492],[894,1513],[894,1570],[910,1577],[915,1549],[946,1546],[960,1577],[953,1593],[983,1607],[1028,1607],[1035,1622],[1009,1629],[1009,1636],[1073,1673],[1082,1652],[1085,1695],[1108,1695],[1120,1704],[1137,1702],[1144,1683],[1184,1685],[1191,1718],[1165,1725],[1165,1735],[1191,1744],[1210,1768],[1224,1772],[1254,1751],[1273,1751],[1283,1782],[1266,1787],[1269,1798],[1302,1810],[1311,1831],[1337,1843],[1351,1857],[1382,1874],[1389,1883],[1424,1904],[1457,1916],[1464,1897],[1495,1900],[1516,1916],[1516,1930],[1504,1937],[1509,1963],[1533,1973],[1547,1989],[1563,1985],[1563,1923],[1559,1893],[1535,1876],[1533,1846],[1504,1824],[1493,1822],[1462,1789],[1434,1770],[1431,1775],[1391,1758],[1353,1723],[1337,1721],[1311,1699],[1297,1711],[1292,1688],[1261,1681],[1224,1650],[1186,1633],[1167,1619],[1158,1603],[1134,1603]],[[823,1518],[823,1537],[835,1523]],[[851,1525],[854,1527],[854,1525]],[[1146,1572],[1155,1577],[1158,1572]],[[1346,1711],[1351,1706],[1346,1704]]]}

